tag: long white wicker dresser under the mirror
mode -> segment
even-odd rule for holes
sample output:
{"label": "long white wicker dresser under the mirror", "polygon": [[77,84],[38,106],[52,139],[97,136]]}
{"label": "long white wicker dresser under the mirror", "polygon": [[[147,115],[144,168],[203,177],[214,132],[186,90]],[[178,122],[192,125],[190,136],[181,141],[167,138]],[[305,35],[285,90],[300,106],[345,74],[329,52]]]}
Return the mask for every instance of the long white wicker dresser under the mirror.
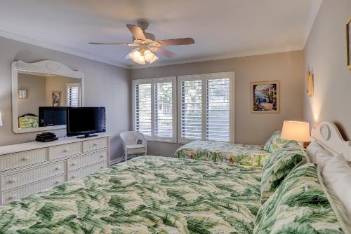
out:
{"label": "long white wicker dresser under the mirror", "polygon": [[107,135],[0,146],[0,203],[84,177],[109,164]]}

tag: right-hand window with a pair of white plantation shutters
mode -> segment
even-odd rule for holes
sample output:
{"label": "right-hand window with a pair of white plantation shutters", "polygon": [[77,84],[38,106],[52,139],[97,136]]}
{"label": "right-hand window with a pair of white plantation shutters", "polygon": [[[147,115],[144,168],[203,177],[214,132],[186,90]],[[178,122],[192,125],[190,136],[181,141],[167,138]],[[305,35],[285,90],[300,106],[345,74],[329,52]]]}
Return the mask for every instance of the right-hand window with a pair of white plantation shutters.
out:
{"label": "right-hand window with a pair of white plantation shutters", "polygon": [[232,72],[178,76],[178,142],[232,140]]}

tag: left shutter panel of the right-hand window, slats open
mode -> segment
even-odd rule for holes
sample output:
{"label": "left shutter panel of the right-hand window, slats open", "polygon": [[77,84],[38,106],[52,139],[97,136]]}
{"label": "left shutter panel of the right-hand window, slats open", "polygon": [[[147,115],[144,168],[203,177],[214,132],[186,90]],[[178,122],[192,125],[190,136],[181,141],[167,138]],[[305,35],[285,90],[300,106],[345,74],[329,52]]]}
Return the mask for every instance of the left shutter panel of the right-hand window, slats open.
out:
{"label": "left shutter panel of the right-hand window, slats open", "polygon": [[182,81],[180,95],[180,137],[202,139],[202,81]]}

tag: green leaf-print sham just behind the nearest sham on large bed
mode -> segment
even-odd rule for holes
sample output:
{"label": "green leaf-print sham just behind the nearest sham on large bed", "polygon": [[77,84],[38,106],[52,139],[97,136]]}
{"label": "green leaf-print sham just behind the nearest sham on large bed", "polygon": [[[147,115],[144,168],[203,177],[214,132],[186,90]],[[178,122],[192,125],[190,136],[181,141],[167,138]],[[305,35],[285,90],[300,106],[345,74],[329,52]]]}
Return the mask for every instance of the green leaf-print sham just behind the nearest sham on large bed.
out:
{"label": "green leaf-print sham just behind the nearest sham on large bed", "polygon": [[261,177],[261,202],[265,202],[279,187],[293,168],[310,163],[310,159],[297,142],[289,142],[267,159]]}

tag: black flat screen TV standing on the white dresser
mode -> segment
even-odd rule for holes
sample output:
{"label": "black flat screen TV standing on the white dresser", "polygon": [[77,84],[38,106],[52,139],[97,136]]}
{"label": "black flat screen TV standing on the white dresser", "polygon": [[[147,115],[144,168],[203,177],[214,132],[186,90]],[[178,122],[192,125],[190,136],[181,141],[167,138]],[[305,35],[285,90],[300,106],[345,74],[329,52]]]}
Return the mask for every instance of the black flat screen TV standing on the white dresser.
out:
{"label": "black flat screen TV standing on the white dresser", "polygon": [[67,137],[106,132],[105,107],[67,107]]}

